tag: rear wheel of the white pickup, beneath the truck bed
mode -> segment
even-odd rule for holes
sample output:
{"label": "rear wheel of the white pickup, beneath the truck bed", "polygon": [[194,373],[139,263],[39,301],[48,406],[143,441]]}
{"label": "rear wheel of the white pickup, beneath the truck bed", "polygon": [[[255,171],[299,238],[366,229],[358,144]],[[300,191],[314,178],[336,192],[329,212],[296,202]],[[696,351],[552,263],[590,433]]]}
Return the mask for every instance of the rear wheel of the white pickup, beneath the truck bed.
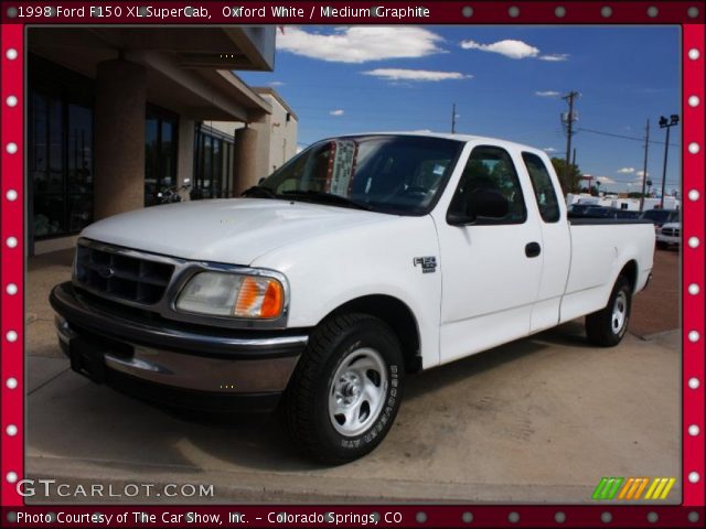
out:
{"label": "rear wheel of the white pickup, beneath the truck bed", "polygon": [[[592,344],[613,347],[620,343],[628,332],[630,309],[632,305],[632,287],[624,276],[616,280],[612,292],[605,309],[586,316],[586,335]],[[622,306],[622,322],[617,315]]]}

